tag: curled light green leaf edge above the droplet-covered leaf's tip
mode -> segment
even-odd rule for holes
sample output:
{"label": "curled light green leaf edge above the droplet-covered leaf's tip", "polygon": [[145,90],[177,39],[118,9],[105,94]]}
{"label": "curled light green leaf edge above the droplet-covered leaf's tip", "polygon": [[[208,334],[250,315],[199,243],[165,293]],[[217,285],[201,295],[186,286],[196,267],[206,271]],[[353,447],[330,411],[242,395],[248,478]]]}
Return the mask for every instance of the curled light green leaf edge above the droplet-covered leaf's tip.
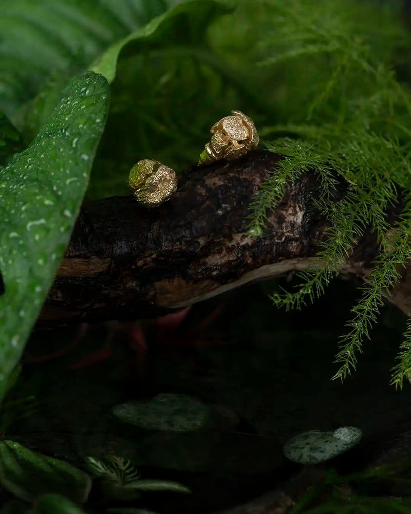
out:
{"label": "curled light green leaf edge above the droplet-covered leaf's tip", "polygon": [[[231,9],[227,5],[216,2],[215,0],[191,0],[177,5],[169,12],[157,16],[154,20],[148,23],[145,27],[141,27],[129,34],[122,41],[111,45],[103,56],[92,66],[91,69],[96,73],[104,75],[109,82],[112,82],[116,76],[117,60],[120,51],[130,42],[150,41],[155,38],[161,40],[162,35],[169,30],[170,27],[176,23],[178,17],[185,18],[185,31],[188,27],[189,33],[179,30],[180,37],[189,40],[189,44],[196,43],[203,34],[204,30],[208,27],[209,23],[219,14],[227,13]],[[169,34],[166,34],[167,40]],[[169,42],[170,44],[170,42]]]}

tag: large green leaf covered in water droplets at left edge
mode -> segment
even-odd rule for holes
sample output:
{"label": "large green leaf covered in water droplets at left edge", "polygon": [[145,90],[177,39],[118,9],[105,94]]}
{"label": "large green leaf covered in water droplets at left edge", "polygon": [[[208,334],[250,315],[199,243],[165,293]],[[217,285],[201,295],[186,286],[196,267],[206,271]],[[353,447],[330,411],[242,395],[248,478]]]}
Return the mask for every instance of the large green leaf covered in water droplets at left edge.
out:
{"label": "large green leaf covered in water droplets at left edge", "polygon": [[0,170],[0,399],[76,222],[108,102],[104,77],[74,79],[31,146]]}

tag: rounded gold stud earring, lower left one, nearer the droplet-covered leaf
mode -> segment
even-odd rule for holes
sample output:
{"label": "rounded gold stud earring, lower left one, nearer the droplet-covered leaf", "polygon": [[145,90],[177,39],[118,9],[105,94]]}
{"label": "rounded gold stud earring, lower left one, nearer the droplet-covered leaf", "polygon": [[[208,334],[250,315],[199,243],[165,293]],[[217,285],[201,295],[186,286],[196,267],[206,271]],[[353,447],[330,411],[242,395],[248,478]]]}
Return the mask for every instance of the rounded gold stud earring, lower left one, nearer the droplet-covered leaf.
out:
{"label": "rounded gold stud earring, lower left one, nearer the droplet-covered leaf", "polygon": [[158,207],[177,189],[176,173],[159,161],[143,159],[134,164],[128,185],[143,207]]}

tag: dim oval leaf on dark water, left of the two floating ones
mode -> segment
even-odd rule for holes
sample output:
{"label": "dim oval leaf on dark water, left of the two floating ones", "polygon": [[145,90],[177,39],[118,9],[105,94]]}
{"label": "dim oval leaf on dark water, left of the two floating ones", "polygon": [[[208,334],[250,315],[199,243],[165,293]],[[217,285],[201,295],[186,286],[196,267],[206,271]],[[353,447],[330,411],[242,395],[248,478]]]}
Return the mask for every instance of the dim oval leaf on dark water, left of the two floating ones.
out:
{"label": "dim oval leaf on dark water, left of the two floating ones", "polygon": [[147,430],[187,432],[206,424],[209,408],[193,396],[163,393],[148,401],[117,405],[113,414]]}

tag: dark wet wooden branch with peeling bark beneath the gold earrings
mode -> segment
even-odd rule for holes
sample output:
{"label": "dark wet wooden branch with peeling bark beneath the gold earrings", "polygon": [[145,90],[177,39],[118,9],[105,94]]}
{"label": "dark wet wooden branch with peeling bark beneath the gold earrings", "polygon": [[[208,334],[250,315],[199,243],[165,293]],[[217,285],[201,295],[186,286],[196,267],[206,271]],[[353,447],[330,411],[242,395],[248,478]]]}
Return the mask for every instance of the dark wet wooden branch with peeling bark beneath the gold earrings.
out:
{"label": "dark wet wooden branch with peeling bark beneath the gold earrings", "polygon": [[[290,186],[262,237],[247,233],[250,203],[280,159],[252,152],[193,167],[157,209],[139,207],[132,196],[85,203],[39,322],[152,318],[248,282],[321,265],[314,255],[327,222],[313,208],[318,187],[312,174]],[[341,271],[364,276],[377,252],[368,234]],[[391,296],[403,310],[411,305],[408,276],[408,288]]]}

